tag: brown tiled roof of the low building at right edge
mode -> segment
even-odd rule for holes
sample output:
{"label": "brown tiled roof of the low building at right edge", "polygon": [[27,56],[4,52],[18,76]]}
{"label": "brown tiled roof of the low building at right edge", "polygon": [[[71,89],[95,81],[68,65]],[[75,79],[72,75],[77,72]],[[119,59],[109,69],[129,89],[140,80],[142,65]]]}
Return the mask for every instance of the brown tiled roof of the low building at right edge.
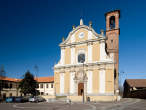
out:
{"label": "brown tiled roof of the low building at right edge", "polygon": [[146,79],[126,79],[130,87],[146,87]]}

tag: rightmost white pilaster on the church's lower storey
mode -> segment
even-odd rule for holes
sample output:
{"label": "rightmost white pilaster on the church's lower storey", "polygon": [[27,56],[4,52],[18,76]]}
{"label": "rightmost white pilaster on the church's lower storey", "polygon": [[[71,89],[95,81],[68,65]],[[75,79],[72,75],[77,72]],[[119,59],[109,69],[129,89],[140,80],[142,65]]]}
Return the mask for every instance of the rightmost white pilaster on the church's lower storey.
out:
{"label": "rightmost white pilaster on the church's lower storey", "polygon": [[99,93],[105,93],[105,70],[99,70]]}

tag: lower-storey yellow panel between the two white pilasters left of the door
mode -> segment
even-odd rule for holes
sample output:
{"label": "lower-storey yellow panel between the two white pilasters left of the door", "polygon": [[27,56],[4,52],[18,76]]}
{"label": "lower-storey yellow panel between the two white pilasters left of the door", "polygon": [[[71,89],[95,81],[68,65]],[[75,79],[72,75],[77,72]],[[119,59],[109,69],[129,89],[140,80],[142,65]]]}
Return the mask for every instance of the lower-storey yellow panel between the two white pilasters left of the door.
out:
{"label": "lower-storey yellow panel between the two white pilasters left of the door", "polygon": [[69,72],[65,73],[64,84],[65,84],[64,92],[67,94],[67,93],[69,93],[69,90],[70,90],[70,73]]}

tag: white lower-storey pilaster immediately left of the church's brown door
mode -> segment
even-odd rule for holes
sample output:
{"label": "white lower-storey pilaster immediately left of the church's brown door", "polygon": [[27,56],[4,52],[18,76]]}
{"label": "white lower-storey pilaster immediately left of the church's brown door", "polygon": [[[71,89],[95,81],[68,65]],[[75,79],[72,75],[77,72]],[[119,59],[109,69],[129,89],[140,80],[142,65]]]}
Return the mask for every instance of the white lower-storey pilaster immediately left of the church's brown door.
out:
{"label": "white lower-storey pilaster immediately left of the church's brown door", "polygon": [[74,83],[75,72],[70,73],[70,94],[75,92],[75,83]]}

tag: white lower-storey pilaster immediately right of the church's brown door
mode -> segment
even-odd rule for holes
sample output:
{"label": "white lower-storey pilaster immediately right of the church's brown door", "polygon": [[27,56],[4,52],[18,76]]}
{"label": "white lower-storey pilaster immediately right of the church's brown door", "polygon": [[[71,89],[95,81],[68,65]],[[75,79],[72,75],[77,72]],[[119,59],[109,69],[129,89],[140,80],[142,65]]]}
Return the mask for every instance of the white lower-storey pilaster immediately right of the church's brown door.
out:
{"label": "white lower-storey pilaster immediately right of the church's brown door", "polygon": [[88,71],[87,77],[88,77],[88,81],[87,81],[87,93],[91,94],[92,93],[92,71]]}

